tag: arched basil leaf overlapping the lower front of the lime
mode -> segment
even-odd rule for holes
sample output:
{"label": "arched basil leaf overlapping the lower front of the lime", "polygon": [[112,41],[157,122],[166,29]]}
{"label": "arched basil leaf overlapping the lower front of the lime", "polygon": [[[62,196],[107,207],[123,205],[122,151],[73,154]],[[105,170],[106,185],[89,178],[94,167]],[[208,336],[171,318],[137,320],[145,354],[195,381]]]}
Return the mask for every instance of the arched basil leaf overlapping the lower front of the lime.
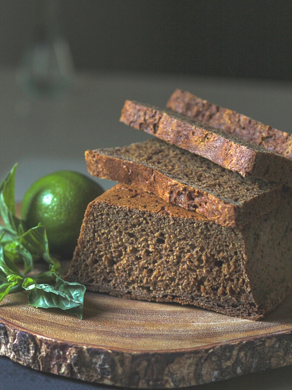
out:
{"label": "arched basil leaf overlapping the lower front of the lime", "polygon": [[49,253],[46,229],[41,223],[22,234],[19,241],[32,254],[34,260],[43,258],[47,263],[54,264],[56,271],[60,270],[60,262]]}

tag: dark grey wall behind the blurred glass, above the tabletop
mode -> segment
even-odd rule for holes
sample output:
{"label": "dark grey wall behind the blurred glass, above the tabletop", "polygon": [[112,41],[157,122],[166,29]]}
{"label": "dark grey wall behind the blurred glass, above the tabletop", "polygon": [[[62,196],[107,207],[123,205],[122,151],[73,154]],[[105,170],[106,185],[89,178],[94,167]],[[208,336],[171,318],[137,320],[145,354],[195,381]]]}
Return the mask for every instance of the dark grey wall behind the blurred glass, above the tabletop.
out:
{"label": "dark grey wall behind the blurred glass, above the tabletop", "polygon": [[[17,65],[44,0],[0,0],[0,65]],[[292,1],[63,0],[77,69],[292,80]]]}

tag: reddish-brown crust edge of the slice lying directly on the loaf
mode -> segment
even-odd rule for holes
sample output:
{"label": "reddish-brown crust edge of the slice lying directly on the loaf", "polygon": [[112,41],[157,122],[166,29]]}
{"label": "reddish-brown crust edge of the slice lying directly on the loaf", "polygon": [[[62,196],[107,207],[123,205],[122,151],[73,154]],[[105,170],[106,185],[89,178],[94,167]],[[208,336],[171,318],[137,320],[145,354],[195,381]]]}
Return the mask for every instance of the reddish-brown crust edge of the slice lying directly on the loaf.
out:
{"label": "reddish-brown crust edge of the slice lying directly on the loaf", "polygon": [[[148,145],[149,141],[146,141],[145,144]],[[119,150],[118,156],[107,155],[107,149],[88,150],[85,153],[88,171],[92,176],[134,184],[167,202],[188,210],[196,210],[197,213],[222,226],[244,226],[251,219],[270,212],[279,204],[281,186],[276,184],[267,188],[266,191],[258,192],[253,198],[245,200],[242,204],[233,204],[231,201],[223,200],[199,187],[191,187],[179,181],[179,178],[167,176],[164,172],[153,169],[149,164],[129,161],[122,157],[123,150],[120,151],[119,148],[112,150]],[[228,173],[228,171],[225,172]],[[254,182],[251,183],[251,186],[253,184]],[[232,181],[230,181],[230,185],[232,185]]]}

